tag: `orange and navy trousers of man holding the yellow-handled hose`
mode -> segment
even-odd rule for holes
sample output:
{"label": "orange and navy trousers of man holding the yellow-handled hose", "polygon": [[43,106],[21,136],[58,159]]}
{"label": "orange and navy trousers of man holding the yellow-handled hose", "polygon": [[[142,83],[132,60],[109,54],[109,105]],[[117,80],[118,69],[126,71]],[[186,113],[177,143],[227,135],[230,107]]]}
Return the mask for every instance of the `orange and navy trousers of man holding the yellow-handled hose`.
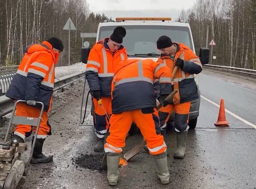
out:
{"label": "orange and navy trousers of man holding the yellow-handled hose", "polygon": [[[109,121],[105,111],[107,112],[108,116],[112,114],[111,108],[111,98],[110,97],[102,97],[101,98],[102,106],[99,105],[97,99],[93,98],[93,105],[94,105],[94,132],[98,138],[104,138],[105,134],[107,133],[109,127]],[[104,111],[104,109],[105,111]]]}

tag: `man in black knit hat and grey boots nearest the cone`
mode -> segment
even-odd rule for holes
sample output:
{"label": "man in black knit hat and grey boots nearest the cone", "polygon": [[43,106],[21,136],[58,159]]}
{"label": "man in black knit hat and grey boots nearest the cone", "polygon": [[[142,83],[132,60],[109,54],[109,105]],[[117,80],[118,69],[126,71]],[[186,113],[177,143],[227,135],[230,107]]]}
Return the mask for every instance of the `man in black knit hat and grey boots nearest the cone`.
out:
{"label": "man in black knit hat and grey boots nearest the cone", "polygon": [[[170,114],[174,114],[174,130],[176,131],[177,148],[174,158],[184,158],[188,126],[188,114],[191,101],[198,99],[198,90],[194,79],[194,74],[202,71],[202,64],[196,54],[182,43],[172,42],[170,37],[161,36],[157,40],[157,49],[162,54],[157,60],[174,70],[177,66],[178,70],[174,75],[173,89],[179,92],[173,97],[173,101],[164,104],[159,110],[159,119],[161,126],[161,134],[165,137],[166,122]],[[166,96],[160,97],[165,99]],[[148,150],[147,147],[144,147]]]}

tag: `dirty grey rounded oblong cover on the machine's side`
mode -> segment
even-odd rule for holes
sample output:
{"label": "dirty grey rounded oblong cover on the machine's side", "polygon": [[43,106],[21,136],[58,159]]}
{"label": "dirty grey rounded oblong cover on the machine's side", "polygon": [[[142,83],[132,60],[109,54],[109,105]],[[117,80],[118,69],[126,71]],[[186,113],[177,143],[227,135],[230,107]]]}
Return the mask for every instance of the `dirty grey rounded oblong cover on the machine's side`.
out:
{"label": "dirty grey rounded oblong cover on the machine's side", "polygon": [[5,186],[3,189],[14,189],[19,185],[19,181],[22,178],[25,168],[25,163],[20,160],[16,160],[11,168],[11,171],[6,178]]}

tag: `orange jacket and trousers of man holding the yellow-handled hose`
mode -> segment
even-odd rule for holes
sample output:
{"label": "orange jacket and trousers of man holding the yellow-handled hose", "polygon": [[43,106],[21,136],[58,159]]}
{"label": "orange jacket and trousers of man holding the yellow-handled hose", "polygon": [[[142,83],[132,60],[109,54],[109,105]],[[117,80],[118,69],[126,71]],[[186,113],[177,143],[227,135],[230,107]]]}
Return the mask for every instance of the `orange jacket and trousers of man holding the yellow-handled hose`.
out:
{"label": "orange jacket and trousers of man holding the yellow-handled hose", "polygon": [[[97,42],[90,51],[86,65],[86,79],[88,81],[91,94],[93,91],[101,91],[102,106],[109,116],[112,115],[111,108],[111,81],[113,70],[121,62],[127,59],[126,48],[121,45],[115,53],[109,50],[105,38]],[[94,105],[94,128],[98,138],[104,138],[108,129],[108,119],[104,109],[93,99]]]}

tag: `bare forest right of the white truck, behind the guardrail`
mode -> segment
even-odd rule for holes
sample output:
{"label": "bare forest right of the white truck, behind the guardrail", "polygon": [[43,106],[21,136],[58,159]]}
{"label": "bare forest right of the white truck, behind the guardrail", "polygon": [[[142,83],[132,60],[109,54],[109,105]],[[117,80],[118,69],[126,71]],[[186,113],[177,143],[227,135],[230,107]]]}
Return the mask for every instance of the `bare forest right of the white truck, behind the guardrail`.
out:
{"label": "bare forest right of the white truck, behind the guardrail", "polygon": [[196,0],[177,21],[190,24],[196,52],[214,39],[212,64],[256,69],[256,0]]}

